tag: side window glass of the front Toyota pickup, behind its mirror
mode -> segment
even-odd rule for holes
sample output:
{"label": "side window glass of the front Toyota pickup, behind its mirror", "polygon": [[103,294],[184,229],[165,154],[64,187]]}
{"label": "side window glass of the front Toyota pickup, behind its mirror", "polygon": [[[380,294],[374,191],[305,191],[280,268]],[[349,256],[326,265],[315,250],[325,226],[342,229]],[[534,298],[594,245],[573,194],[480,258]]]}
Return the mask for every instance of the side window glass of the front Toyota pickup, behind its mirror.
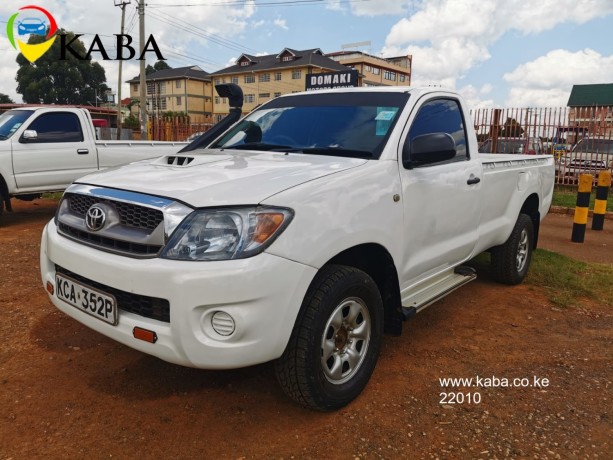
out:
{"label": "side window glass of the front Toyota pickup, behind its mirror", "polygon": [[431,133],[447,133],[453,138],[457,153],[450,161],[468,158],[466,131],[458,101],[434,99],[422,105],[413,120],[407,141],[412,142],[417,136]]}

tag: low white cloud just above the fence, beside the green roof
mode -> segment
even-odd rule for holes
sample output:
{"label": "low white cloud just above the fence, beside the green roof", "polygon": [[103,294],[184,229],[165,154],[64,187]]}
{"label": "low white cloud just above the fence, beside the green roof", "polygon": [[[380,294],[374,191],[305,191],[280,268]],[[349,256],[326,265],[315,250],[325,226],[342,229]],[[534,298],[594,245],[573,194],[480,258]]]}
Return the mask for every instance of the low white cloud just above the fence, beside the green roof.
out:
{"label": "low white cloud just above the fence, beside the green roof", "polygon": [[512,106],[566,106],[573,84],[609,83],[613,56],[557,49],[504,74]]}

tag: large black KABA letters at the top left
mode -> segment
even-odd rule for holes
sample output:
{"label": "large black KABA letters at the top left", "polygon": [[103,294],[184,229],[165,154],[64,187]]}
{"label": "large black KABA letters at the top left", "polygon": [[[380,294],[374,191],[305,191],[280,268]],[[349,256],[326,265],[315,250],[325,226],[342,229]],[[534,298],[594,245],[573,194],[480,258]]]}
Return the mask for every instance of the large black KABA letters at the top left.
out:
{"label": "large black KABA letters at the top left", "polygon": [[[106,49],[104,48],[102,40],[100,40],[98,34],[94,35],[94,39],[92,40],[92,43],[87,50],[87,53],[85,53],[85,56],[81,56],[77,50],[71,47],[71,45],[75,43],[75,41],[79,40],[79,38],[82,36],[83,34],[77,34],[74,35],[70,41],[67,41],[68,35],[60,35],[60,59],[66,60],[67,53],[72,54],[74,57],[81,61],[91,59],[92,53],[100,53],[102,55],[102,60],[104,61],[128,61],[130,59],[133,59],[134,56],[136,56],[136,50],[131,46],[132,37],[127,34],[115,34],[115,37],[117,38],[115,47],[115,49],[117,50],[117,55],[114,59],[109,57],[109,54],[106,52]],[[127,56],[124,56],[124,50],[127,51]],[[145,42],[145,46],[143,47],[143,51],[137,60],[142,61],[143,59],[145,59],[146,53],[155,53],[156,59],[158,61],[166,60],[164,56],[162,56],[160,48],[155,42],[155,38],[153,38],[153,35],[149,35],[149,38],[147,39],[147,41]]]}

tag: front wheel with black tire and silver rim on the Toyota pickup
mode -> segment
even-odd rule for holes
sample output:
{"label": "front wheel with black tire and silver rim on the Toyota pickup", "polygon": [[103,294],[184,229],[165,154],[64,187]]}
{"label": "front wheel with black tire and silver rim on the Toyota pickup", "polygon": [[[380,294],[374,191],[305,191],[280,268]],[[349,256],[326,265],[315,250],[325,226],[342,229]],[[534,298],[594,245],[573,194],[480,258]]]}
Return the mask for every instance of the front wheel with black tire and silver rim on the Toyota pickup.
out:
{"label": "front wheel with black tire and silver rim on the Toyota pickup", "polygon": [[353,267],[326,266],[311,283],[275,363],[277,380],[302,406],[339,409],[368,383],[382,336],[383,303],[373,279]]}

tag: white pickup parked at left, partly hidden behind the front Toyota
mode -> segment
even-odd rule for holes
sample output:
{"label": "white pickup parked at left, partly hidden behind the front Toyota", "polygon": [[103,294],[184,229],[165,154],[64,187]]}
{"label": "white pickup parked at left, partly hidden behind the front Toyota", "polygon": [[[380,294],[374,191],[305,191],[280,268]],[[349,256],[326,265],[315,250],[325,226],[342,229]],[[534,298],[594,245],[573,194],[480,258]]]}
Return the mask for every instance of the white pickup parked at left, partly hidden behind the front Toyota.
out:
{"label": "white pickup parked at left, partly hidden behind the front Toyota", "polygon": [[[24,107],[0,115],[0,214],[12,196],[64,190],[99,169],[177,152],[185,143],[97,141],[89,112]],[[4,205],[4,206],[3,206]]]}

